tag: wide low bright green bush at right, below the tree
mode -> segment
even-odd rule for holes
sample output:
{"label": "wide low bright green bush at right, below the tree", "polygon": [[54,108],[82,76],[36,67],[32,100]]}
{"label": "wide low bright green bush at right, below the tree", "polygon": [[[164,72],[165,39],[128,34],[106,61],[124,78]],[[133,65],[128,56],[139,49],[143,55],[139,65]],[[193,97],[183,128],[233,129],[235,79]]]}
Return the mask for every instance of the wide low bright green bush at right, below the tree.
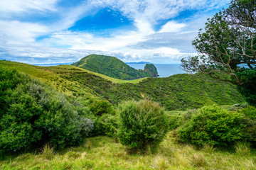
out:
{"label": "wide low bright green bush at right, below the tree", "polygon": [[178,128],[181,142],[194,145],[229,145],[246,140],[248,120],[241,113],[228,112],[218,106],[204,106]]}

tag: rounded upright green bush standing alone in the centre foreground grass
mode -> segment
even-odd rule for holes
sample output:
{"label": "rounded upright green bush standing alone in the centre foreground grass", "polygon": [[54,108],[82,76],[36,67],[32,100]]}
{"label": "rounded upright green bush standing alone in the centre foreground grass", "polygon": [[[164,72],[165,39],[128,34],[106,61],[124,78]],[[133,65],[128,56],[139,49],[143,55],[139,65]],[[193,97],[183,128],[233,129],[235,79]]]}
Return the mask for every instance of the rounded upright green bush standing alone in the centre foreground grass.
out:
{"label": "rounded upright green bush standing alone in the centre foreground grass", "polygon": [[168,131],[169,125],[159,103],[149,100],[128,101],[119,106],[118,138],[129,149],[155,147]]}

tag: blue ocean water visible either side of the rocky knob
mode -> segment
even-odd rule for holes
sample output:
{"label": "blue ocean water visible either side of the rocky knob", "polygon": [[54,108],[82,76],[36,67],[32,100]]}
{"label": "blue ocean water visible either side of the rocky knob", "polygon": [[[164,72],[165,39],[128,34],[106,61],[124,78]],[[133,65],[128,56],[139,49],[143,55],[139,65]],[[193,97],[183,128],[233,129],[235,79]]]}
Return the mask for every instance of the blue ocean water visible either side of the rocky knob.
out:
{"label": "blue ocean water visible either side of the rocky knob", "polygon": [[[145,64],[128,64],[134,69],[144,69]],[[159,77],[169,77],[174,74],[186,73],[181,69],[181,64],[154,64]]]}

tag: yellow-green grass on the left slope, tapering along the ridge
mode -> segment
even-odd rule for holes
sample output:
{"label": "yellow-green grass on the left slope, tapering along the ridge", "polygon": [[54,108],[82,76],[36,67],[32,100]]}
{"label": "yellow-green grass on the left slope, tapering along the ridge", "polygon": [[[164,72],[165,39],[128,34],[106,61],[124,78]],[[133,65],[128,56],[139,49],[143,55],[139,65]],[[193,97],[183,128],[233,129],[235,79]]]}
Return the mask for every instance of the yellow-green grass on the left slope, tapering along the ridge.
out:
{"label": "yellow-green grass on the left slope, tapering along the ridge", "polygon": [[0,60],[0,67],[8,69],[17,69],[18,72],[23,72],[29,74],[33,79],[38,79],[43,83],[46,83],[50,86],[53,86],[54,89],[60,93],[67,94],[68,96],[74,96],[77,98],[77,101],[87,106],[92,99],[102,98],[102,94],[95,92],[89,86],[80,84],[77,81],[70,81],[65,79],[65,75],[73,77],[74,74],[90,74],[90,77],[97,79],[95,77],[100,77],[103,80],[111,81],[112,84],[138,84],[143,79],[134,79],[134,80],[120,80],[114,79],[112,77],[107,77],[103,74],[91,72],[80,67],[75,67],[72,65],[59,65],[54,67],[39,67],[31,64],[24,64],[20,62],[10,62]]}

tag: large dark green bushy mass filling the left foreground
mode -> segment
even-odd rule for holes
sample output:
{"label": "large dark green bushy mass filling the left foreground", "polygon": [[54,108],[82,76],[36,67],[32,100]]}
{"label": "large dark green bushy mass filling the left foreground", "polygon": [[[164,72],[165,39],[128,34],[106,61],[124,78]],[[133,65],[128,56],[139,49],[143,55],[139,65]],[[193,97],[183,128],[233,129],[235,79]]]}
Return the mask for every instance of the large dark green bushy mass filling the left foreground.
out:
{"label": "large dark green bushy mass filling the left foreground", "polygon": [[75,145],[92,129],[79,106],[45,84],[15,70],[0,69],[0,149],[17,151],[50,142]]}

